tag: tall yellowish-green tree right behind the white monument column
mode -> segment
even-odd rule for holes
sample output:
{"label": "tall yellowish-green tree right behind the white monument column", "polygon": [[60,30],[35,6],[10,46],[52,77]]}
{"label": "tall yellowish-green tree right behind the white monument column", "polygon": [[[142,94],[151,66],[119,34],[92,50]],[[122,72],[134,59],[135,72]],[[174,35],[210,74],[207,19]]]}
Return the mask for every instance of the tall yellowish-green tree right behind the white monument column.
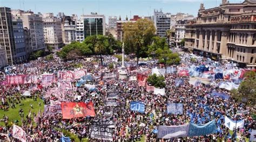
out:
{"label": "tall yellowish-green tree right behind the white monument column", "polygon": [[139,57],[145,55],[147,46],[151,44],[154,32],[156,32],[154,24],[148,19],[139,19],[135,23],[125,23],[123,31],[126,53],[135,53],[138,64]]}

